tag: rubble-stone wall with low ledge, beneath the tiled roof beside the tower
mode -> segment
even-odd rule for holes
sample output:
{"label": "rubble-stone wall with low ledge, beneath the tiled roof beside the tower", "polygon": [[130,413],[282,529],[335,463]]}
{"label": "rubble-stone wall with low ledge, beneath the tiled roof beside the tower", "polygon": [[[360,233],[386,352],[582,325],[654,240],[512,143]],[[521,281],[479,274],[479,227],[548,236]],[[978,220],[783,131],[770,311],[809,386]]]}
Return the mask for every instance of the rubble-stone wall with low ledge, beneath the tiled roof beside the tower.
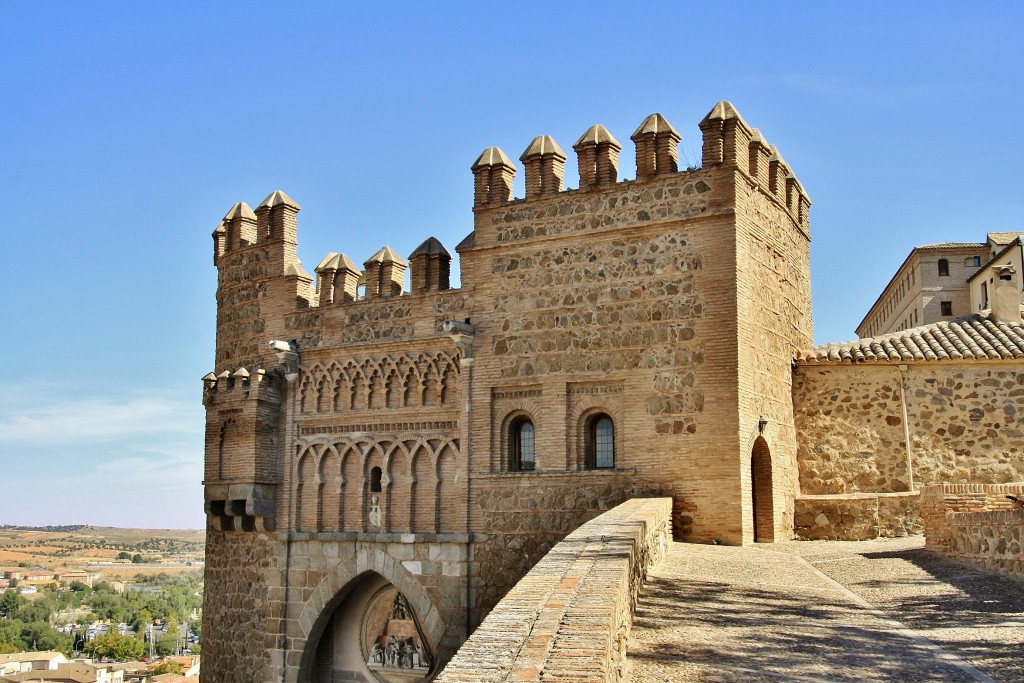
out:
{"label": "rubble-stone wall with low ledge, beneath the tiled roof beside the tower", "polygon": [[[857,533],[876,528],[874,518],[881,536],[920,528],[919,501],[889,501],[892,497],[886,496],[910,490],[904,429],[910,434],[915,490],[931,483],[1024,480],[1024,366],[935,361],[904,367],[905,392],[896,364],[797,367],[801,537],[870,538]],[[894,505],[897,514],[882,512]],[[837,514],[849,514],[861,520],[863,528],[853,536],[849,528],[824,528],[814,521],[819,514],[828,519],[828,526]]]}

